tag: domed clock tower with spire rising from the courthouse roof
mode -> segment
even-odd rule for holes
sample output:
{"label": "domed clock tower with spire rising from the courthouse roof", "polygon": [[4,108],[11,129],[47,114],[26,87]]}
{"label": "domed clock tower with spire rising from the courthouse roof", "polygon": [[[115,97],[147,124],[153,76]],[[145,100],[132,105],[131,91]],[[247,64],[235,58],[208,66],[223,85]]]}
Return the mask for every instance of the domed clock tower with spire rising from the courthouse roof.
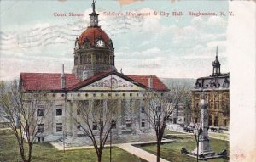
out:
{"label": "domed clock tower with spire rising from the courthouse roof", "polygon": [[114,67],[113,42],[98,25],[95,1],[92,3],[90,26],[76,39],[74,48],[74,66],[72,73],[80,80],[116,70]]}

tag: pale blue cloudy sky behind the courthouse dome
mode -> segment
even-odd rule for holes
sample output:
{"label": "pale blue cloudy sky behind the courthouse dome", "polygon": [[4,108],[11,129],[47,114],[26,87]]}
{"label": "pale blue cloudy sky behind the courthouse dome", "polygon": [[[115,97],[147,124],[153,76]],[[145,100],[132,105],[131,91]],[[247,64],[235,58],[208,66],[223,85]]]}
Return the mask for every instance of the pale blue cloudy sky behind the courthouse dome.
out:
{"label": "pale blue cloudy sky behind the courthouse dome", "polygon": [[[99,25],[113,41],[117,70],[161,78],[207,76],[218,46],[221,72],[229,72],[228,1],[130,1],[96,1]],[[20,72],[61,72],[61,64],[71,73],[75,39],[89,25],[91,2],[0,1],[0,80],[18,78]],[[217,15],[189,16],[189,11]],[[172,12],[183,16],[172,16]]]}

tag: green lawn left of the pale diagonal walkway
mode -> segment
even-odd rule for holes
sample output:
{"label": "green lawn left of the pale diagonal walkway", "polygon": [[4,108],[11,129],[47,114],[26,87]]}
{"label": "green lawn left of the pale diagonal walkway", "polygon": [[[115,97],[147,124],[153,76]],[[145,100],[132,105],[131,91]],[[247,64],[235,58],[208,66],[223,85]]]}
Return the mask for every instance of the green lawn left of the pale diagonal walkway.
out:
{"label": "green lawn left of the pale diagonal walkway", "polygon": [[[0,161],[21,161],[15,136],[10,130],[0,130]],[[65,153],[55,149],[49,142],[38,143],[33,146],[32,161],[40,162],[96,162],[94,149],[68,150]],[[102,154],[102,161],[109,161],[109,149]],[[129,154],[120,148],[112,148],[112,161],[114,162],[144,162],[137,156]]]}

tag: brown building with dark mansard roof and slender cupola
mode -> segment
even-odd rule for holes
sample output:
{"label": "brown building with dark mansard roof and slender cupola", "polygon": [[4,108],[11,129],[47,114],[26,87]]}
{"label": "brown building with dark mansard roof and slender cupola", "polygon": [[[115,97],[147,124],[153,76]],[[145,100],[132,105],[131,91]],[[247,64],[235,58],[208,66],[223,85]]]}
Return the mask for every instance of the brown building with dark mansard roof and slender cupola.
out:
{"label": "brown building with dark mansard roof and slender cupola", "polygon": [[230,126],[230,73],[220,72],[218,48],[212,62],[212,75],[200,77],[192,90],[191,121],[200,121],[199,102],[201,92],[205,92],[208,103],[209,126]]}

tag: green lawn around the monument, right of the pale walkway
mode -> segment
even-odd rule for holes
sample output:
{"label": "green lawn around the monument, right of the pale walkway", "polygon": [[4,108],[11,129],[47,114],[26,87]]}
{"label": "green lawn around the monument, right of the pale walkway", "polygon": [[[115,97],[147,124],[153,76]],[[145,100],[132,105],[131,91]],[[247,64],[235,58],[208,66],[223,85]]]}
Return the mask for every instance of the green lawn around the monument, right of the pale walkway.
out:
{"label": "green lawn around the monument, right of the pale walkway", "polygon": [[[167,159],[171,162],[195,162],[196,159],[190,158],[187,155],[180,153],[182,147],[186,148],[188,151],[195,149],[195,138],[188,136],[173,136],[171,139],[174,139],[175,142],[165,143],[161,145],[160,148],[160,157]],[[217,139],[210,139],[211,147],[215,153],[221,152],[224,148],[227,148],[229,151],[229,142],[222,141]],[[156,154],[156,145],[144,145],[139,146],[138,148],[143,148],[144,150]],[[228,162],[227,159],[208,159],[210,162]]]}

